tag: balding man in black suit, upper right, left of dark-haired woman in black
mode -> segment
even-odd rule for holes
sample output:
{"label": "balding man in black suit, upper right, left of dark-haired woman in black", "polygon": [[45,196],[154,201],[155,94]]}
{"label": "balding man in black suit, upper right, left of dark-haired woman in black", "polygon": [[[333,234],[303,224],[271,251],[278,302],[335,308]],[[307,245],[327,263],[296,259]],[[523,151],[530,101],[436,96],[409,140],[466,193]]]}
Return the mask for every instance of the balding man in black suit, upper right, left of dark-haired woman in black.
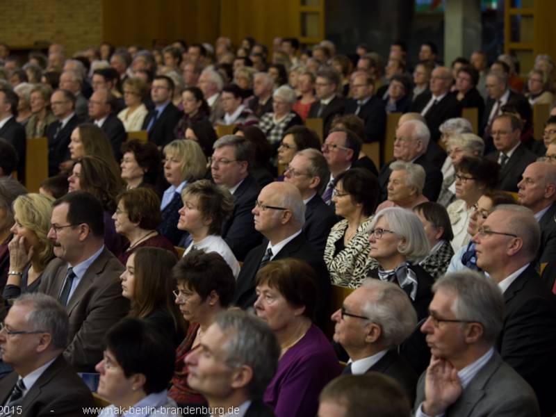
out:
{"label": "balding man in black suit, upper right, left of dark-haired woman in black", "polygon": [[455,95],[450,94],[452,81],[452,72],[449,68],[434,68],[429,81],[429,90],[418,95],[411,105],[411,111],[420,113],[427,120],[433,142],[439,141],[439,127],[445,120],[461,116],[461,104]]}

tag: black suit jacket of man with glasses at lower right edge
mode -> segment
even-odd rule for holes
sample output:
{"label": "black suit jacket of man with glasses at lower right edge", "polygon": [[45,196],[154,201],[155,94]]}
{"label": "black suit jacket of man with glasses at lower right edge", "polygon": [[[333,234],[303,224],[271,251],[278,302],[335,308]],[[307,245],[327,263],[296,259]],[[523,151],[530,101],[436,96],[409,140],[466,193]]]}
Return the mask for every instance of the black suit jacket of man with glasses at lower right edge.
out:
{"label": "black suit jacket of man with glasses at lower right edge", "polygon": [[537,394],[541,414],[556,412],[556,298],[533,265],[504,292],[506,316],[497,347]]}

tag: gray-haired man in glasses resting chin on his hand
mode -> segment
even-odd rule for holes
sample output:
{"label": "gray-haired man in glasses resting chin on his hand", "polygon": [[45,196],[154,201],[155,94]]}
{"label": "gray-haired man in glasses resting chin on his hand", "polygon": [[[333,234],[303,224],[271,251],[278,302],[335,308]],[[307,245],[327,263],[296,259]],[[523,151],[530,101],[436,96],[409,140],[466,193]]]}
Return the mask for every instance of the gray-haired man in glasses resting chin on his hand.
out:
{"label": "gray-haired man in glasses resting chin on his hand", "polygon": [[417,385],[415,416],[539,416],[531,387],[493,347],[504,322],[496,284],[454,272],[433,291],[421,327],[432,357]]}

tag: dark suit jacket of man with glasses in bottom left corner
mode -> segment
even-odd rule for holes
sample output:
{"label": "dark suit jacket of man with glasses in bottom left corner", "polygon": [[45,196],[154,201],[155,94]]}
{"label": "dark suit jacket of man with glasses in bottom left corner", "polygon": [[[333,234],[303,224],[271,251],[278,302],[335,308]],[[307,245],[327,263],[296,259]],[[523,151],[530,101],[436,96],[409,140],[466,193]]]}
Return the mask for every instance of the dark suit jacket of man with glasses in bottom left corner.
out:
{"label": "dark suit jacket of man with glasses in bottom left corner", "polygon": [[[6,402],[17,382],[18,375],[10,373],[0,380],[0,402]],[[92,407],[92,394],[63,355],[44,370],[22,402],[21,417],[83,416],[82,407]]]}

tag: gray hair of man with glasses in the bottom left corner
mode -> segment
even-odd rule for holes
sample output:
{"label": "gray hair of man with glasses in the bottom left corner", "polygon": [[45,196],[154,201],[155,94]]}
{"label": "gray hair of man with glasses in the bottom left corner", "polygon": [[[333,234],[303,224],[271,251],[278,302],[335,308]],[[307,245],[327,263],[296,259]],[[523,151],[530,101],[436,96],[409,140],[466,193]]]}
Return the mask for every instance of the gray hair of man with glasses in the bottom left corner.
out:
{"label": "gray hair of man with glasses in the bottom left corner", "polygon": [[70,334],[70,320],[65,308],[50,295],[25,293],[13,302],[14,306],[28,306],[31,311],[25,320],[31,330],[49,333],[54,349],[65,349]]}

